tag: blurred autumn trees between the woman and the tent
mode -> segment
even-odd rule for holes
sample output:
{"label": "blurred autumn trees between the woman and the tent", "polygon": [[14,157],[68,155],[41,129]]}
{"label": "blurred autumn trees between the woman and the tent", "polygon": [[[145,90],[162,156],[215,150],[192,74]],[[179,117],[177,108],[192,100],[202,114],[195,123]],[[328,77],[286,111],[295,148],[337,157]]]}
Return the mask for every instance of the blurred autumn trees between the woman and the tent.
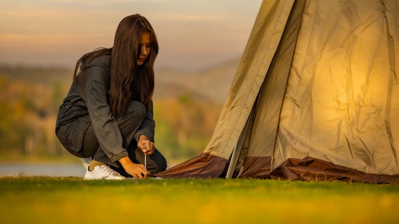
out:
{"label": "blurred autumn trees between the woman and the tent", "polygon": [[190,95],[154,101],[157,147],[171,159],[191,159],[206,148],[221,105],[196,101]]}

